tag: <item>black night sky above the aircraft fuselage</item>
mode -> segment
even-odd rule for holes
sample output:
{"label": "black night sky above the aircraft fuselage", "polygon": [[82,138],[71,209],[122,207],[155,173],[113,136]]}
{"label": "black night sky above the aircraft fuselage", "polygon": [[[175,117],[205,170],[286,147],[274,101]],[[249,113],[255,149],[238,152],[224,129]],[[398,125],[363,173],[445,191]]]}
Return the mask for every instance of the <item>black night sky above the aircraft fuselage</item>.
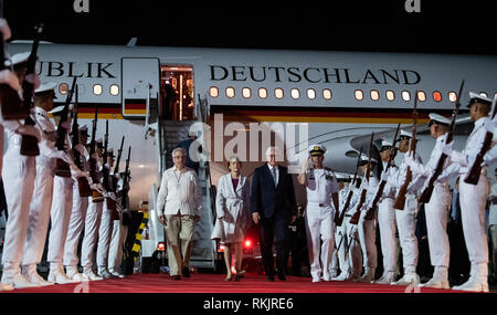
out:
{"label": "black night sky above the aircraft fuselage", "polygon": [[55,43],[497,54],[491,1],[3,0],[12,40],[43,21]]}

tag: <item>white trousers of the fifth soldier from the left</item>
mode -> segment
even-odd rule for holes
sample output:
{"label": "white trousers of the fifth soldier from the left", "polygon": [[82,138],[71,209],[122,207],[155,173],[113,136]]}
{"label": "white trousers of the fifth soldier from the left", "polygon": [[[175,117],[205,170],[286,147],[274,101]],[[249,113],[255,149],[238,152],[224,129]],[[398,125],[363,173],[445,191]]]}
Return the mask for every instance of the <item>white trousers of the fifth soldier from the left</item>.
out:
{"label": "white trousers of the fifth soldier from the left", "polygon": [[81,265],[85,271],[89,271],[93,267],[93,252],[96,245],[104,208],[103,202],[92,202],[89,198],[85,218],[85,235],[83,237],[83,244],[81,246]]}

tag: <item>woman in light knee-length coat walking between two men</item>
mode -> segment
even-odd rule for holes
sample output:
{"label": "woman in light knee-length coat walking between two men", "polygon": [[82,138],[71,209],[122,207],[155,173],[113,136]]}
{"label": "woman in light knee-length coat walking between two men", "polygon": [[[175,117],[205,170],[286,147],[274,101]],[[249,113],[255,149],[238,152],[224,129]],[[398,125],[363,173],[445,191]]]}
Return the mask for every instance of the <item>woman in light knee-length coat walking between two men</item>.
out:
{"label": "woman in light knee-length coat walking between two men", "polygon": [[250,182],[241,175],[242,164],[237,157],[228,162],[230,172],[219,179],[218,196],[215,198],[216,220],[212,239],[219,239],[224,245],[224,262],[226,263],[226,279],[231,281],[231,260],[234,251],[235,281],[242,276],[242,243],[245,231],[251,224],[248,208]]}

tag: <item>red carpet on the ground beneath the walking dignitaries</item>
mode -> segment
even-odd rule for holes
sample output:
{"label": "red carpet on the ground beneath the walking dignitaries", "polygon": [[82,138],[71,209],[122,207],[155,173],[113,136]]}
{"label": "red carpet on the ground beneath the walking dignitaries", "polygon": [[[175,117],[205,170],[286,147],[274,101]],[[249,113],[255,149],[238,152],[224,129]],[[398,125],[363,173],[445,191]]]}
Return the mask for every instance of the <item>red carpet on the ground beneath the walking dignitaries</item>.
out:
{"label": "red carpet on the ground beneath the walking dignitaries", "polygon": [[192,274],[172,281],[165,274],[134,274],[125,279],[75,284],[20,288],[13,293],[455,293],[453,290],[408,287],[396,285],[319,282],[310,277],[287,276],[287,281],[266,282],[265,276],[247,274],[240,282],[225,282],[223,274]]}

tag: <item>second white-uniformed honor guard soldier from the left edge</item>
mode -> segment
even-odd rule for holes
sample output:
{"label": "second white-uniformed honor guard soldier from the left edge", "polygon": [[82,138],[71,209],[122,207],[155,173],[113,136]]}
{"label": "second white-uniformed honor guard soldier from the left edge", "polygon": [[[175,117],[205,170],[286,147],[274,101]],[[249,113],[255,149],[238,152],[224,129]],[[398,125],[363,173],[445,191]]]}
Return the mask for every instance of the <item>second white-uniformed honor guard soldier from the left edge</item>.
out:
{"label": "second white-uniformed honor guard soldier from the left edge", "polygon": [[55,83],[44,83],[34,91],[36,126],[40,128],[42,137],[39,144],[40,155],[36,156],[36,178],[30,204],[29,228],[22,258],[22,274],[30,282],[40,285],[53,284],[53,282],[46,282],[38,274],[36,265],[41,262],[49,231],[55,160],[62,159],[70,162],[70,156],[55,148],[56,130],[49,117],[49,112],[53,109],[53,99],[56,98],[55,87]]}

